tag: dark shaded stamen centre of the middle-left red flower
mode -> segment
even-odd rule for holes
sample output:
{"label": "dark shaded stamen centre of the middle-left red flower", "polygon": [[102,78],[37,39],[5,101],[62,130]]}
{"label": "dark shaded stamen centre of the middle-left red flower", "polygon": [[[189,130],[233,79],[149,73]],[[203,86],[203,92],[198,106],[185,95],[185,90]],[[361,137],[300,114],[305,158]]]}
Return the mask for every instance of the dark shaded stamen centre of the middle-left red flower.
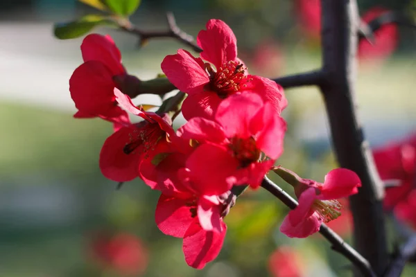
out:
{"label": "dark shaded stamen centre of the middle-left red flower", "polygon": [[129,142],[124,146],[123,152],[125,154],[135,154],[139,151],[144,154],[149,150],[155,150],[155,145],[164,134],[165,132],[160,129],[157,123],[143,121],[129,134]]}

